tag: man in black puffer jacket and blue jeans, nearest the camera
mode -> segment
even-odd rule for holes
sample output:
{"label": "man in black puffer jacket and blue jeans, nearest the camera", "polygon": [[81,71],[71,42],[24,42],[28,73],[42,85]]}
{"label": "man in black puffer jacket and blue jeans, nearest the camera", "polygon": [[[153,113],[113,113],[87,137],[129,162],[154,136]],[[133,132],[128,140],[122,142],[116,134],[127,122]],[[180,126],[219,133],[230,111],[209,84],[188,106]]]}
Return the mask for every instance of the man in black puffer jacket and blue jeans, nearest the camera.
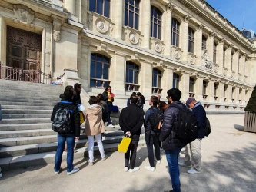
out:
{"label": "man in black puffer jacket and blue jeans, nearest the camera", "polygon": [[180,170],[178,167],[178,154],[182,147],[186,144],[181,143],[174,133],[175,123],[178,122],[178,108],[172,105],[178,105],[180,108],[186,108],[185,104],[181,104],[181,91],[178,88],[172,88],[167,91],[167,99],[169,107],[165,110],[163,124],[159,140],[162,141],[162,147],[165,150],[168,162],[169,174],[171,176],[172,190],[171,192],[181,191]]}

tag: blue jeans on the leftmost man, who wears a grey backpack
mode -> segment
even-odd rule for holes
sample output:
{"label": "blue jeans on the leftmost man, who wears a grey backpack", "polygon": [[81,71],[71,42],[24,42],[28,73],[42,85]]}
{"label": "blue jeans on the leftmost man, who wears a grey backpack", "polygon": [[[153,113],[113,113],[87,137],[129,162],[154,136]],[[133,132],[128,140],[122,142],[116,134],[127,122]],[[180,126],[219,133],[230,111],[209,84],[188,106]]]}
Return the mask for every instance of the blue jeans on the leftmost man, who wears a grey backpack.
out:
{"label": "blue jeans on the leftmost man, who wears a grey backpack", "polygon": [[65,147],[65,142],[67,142],[67,172],[73,170],[73,160],[74,160],[74,146],[75,146],[75,134],[57,134],[58,147],[55,154],[55,168],[57,172],[61,169],[62,164],[62,154]]}

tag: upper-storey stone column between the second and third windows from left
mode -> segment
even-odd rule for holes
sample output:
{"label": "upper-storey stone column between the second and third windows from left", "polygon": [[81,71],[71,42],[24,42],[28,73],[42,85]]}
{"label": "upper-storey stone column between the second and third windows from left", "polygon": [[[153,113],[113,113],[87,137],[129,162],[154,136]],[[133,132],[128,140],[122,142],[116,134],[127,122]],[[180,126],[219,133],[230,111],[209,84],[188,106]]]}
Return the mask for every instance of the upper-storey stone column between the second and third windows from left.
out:
{"label": "upper-storey stone column between the second and third windows from left", "polygon": [[150,31],[151,31],[151,2],[142,1],[143,12],[141,14],[141,33],[144,35],[142,47],[150,48]]}

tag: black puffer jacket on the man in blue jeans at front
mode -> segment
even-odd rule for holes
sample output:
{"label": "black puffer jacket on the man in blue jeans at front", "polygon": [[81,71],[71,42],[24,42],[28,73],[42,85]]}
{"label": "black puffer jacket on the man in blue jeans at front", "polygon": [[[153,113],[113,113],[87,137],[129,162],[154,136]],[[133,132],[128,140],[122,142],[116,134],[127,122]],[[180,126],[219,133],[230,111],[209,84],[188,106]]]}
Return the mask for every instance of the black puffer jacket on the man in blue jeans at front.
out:
{"label": "black puffer jacket on the man in blue jeans at front", "polygon": [[164,150],[174,150],[185,147],[186,145],[178,140],[173,131],[174,124],[178,122],[179,113],[178,108],[172,107],[174,104],[177,104],[181,108],[187,108],[185,104],[181,104],[180,101],[175,101],[165,110],[161,133],[159,136],[159,140],[162,141],[162,147]]}

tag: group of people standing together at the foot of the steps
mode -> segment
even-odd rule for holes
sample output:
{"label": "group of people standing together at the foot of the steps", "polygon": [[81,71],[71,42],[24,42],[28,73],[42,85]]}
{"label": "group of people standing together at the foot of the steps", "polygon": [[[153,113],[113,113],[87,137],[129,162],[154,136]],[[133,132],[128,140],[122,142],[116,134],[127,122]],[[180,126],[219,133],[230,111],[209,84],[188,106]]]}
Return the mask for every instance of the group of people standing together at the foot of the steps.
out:
{"label": "group of people standing together at the foot of the steps", "polygon": [[[58,148],[55,155],[55,174],[58,174],[61,168],[62,153],[67,142],[67,174],[74,174],[79,169],[73,167],[73,148],[75,139],[80,137],[80,115],[78,111],[78,104],[81,104],[80,98],[81,84],[67,86],[64,94],[61,95],[62,101],[55,105],[51,120],[54,121],[58,116],[59,108],[68,108],[70,112],[71,126],[65,133],[58,132]],[[172,88],[167,91],[168,104],[160,101],[160,97],[151,96],[148,104],[151,106],[146,113],[143,111],[143,104],[145,98],[141,93],[132,93],[128,98],[128,107],[121,110],[119,117],[119,125],[121,130],[124,131],[125,136],[131,137],[131,144],[128,151],[125,153],[125,171],[133,173],[139,170],[135,167],[135,160],[137,154],[138,141],[141,135],[141,127],[145,127],[145,141],[148,149],[149,165],[145,166],[146,170],[155,171],[154,151],[158,164],[161,163],[161,150],[165,150],[166,159],[168,162],[169,174],[171,177],[172,190],[174,192],[181,191],[181,183],[179,180],[179,167],[190,167],[189,174],[198,174],[201,171],[201,139],[204,138],[204,127],[206,125],[206,113],[200,102],[194,98],[188,98],[186,105],[182,104],[181,91],[177,88]],[[102,136],[104,137],[105,122],[108,126],[111,124],[111,107],[113,106],[114,94],[111,93],[111,87],[108,86],[102,94],[91,96],[89,98],[90,106],[85,109],[85,135],[88,137],[88,154],[89,165],[93,165],[94,161],[94,137],[96,138],[98,149],[101,154],[102,160],[108,157],[105,155],[104,147],[102,144]],[[198,120],[198,138],[191,143],[181,142],[175,134],[174,127],[178,123],[179,109],[190,108]],[[162,114],[161,126],[159,125],[158,131],[155,131],[153,121],[155,113]],[[58,117],[57,117],[58,118]],[[103,134],[103,135],[102,135]],[[178,162],[178,157],[181,149],[185,147],[185,161]]]}

